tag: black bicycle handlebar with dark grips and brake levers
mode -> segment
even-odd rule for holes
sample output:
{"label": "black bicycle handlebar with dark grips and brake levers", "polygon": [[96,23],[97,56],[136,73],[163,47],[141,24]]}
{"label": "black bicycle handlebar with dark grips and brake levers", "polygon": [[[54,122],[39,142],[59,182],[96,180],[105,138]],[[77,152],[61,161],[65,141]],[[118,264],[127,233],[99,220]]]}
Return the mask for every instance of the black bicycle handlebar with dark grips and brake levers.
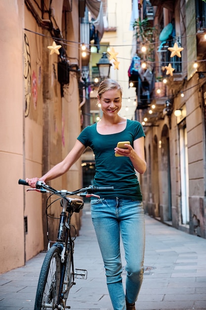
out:
{"label": "black bicycle handlebar with dark grips and brake levers", "polygon": [[[26,182],[26,180],[23,180],[23,179],[19,179],[18,184],[29,186],[29,184]],[[58,194],[58,193],[61,192],[61,191],[57,191],[57,190],[53,189],[52,187],[50,187],[47,184],[44,184],[42,181],[37,181],[36,189],[34,189],[34,190],[37,190],[37,189],[39,189],[40,192],[48,191],[48,192],[53,193],[53,194]],[[74,192],[67,192],[67,191],[65,191],[65,195],[77,195],[77,194],[80,194],[80,196],[85,196],[85,193],[93,194],[93,193],[96,193],[96,192],[112,192],[112,191],[114,191],[114,186],[94,186],[94,185],[89,185],[88,187],[81,188],[81,189],[76,190]],[[82,195],[81,195],[81,193],[82,193]]]}

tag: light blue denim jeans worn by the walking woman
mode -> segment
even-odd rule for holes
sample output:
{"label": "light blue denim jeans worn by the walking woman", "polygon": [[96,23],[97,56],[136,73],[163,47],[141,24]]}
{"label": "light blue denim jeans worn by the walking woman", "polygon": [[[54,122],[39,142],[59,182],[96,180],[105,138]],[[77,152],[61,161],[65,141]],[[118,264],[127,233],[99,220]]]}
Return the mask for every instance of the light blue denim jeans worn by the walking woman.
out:
{"label": "light blue denim jeans worn by the walking woman", "polygon": [[[143,280],[145,219],[143,204],[129,199],[91,200],[91,217],[106,270],[114,310],[126,310],[137,300]],[[122,283],[122,237],[126,266],[126,290]]]}

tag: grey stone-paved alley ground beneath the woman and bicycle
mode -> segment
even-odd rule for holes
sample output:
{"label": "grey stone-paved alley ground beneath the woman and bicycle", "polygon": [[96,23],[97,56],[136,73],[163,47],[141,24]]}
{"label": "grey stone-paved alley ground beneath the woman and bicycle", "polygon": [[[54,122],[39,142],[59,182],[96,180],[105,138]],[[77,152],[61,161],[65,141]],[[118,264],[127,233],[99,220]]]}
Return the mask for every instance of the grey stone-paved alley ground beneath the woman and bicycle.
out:
{"label": "grey stone-paved alley ground beneath the woman and bicycle", "polygon": [[[123,249],[122,249],[123,250]],[[45,253],[0,275],[0,310],[33,310]],[[125,261],[123,258],[123,265]],[[146,215],[145,273],[136,310],[206,310],[206,240]],[[75,267],[87,269],[70,291],[71,310],[112,310],[105,271],[85,205],[75,242]],[[125,282],[125,272],[123,272]]]}

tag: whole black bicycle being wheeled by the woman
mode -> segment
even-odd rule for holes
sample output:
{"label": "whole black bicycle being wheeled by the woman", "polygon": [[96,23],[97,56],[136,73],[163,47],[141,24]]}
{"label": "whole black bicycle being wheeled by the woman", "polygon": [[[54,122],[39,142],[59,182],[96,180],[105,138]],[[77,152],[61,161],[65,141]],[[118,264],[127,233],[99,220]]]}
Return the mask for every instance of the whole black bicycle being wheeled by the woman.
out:
{"label": "whole black bicycle being wheeled by the woman", "polygon": [[[19,179],[18,183],[29,186],[23,179]],[[71,226],[73,226],[71,225],[72,214],[74,212],[80,212],[84,203],[81,199],[71,198],[69,196],[78,195],[81,197],[93,196],[100,198],[93,193],[113,190],[113,187],[89,185],[73,192],[68,192],[67,190],[58,191],[41,181],[37,182],[36,188],[27,189],[27,191],[50,193],[51,195],[59,196],[60,198],[58,199],[62,207],[56,241],[52,242],[49,240],[48,251],[42,263],[36,293],[35,310],[70,309],[70,306],[66,306],[66,302],[71,287],[76,284],[75,278],[80,276],[82,279],[86,279],[87,277],[87,271],[85,269],[74,269],[73,254],[74,240],[76,237],[73,238],[71,236]]]}

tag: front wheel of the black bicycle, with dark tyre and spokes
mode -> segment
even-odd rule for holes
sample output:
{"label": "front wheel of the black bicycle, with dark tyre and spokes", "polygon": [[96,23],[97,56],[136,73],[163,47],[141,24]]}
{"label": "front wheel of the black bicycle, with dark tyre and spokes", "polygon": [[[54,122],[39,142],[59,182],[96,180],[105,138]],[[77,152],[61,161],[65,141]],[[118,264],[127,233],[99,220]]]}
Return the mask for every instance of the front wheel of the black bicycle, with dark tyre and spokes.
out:
{"label": "front wheel of the black bicycle, with dark tyre and spokes", "polygon": [[47,252],[39,278],[35,300],[35,310],[58,309],[61,262],[59,249],[53,246]]}

